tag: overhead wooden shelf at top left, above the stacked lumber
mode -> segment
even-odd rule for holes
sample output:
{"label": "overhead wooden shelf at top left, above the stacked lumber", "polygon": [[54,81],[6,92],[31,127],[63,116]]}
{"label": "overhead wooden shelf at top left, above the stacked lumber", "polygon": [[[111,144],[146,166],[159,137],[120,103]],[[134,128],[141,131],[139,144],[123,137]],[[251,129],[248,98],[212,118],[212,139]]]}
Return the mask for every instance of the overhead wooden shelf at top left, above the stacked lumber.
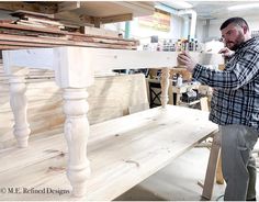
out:
{"label": "overhead wooden shelf at top left, above the stacked lumber", "polygon": [[[105,1],[80,1],[80,2],[0,2],[0,8],[10,11],[18,11],[18,13],[27,13],[26,15],[42,16],[40,22],[47,15],[42,13],[52,13],[49,18],[58,19],[65,23],[77,25],[86,25],[89,19],[112,19],[111,21],[120,22],[128,20],[124,15],[131,14],[133,16],[151,15],[155,11],[154,2],[105,2]],[[32,12],[29,12],[32,11]],[[35,13],[37,12],[37,13]],[[115,16],[121,16],[120,19]],[[123,18],[124,16],[124,18]],[[35,20],[34,18],[32,20]],[[47,21],[49,22],[49,21]],[[104,21],[106,22],[106,21]],[[53,22],[54,23],[54,22]]]}

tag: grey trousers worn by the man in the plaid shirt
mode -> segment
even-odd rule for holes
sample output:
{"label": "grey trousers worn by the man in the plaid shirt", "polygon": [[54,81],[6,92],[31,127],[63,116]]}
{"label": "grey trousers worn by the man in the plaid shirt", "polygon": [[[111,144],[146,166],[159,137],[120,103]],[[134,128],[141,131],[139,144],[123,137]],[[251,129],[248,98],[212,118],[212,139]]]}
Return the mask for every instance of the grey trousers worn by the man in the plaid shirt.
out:
{"label": "grey trousers worn by the man in the plaid shirt", "polygon": [[256,198],[256,159],[251,152],[259,133],[244,125],[219,126],[222,168],[226,181],[225,201]]}

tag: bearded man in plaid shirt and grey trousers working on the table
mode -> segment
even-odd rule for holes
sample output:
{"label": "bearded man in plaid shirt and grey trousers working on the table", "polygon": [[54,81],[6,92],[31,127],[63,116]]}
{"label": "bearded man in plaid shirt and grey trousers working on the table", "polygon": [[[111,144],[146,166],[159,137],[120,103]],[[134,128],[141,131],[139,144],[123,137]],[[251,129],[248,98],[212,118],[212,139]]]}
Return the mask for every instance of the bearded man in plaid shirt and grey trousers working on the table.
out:
{"label": "bearded man in plaid shirt and grey trousers working on the table", "polygon": [[219,125],[224,200],[256,200],[256,161],[251,150],[259,135],[259,38],[251,37],[247,22],[230,18],[221,26],[227,57],[223,71],[195,63],[187,52],[179,64],[194,79],[213,87],[210,120]]}

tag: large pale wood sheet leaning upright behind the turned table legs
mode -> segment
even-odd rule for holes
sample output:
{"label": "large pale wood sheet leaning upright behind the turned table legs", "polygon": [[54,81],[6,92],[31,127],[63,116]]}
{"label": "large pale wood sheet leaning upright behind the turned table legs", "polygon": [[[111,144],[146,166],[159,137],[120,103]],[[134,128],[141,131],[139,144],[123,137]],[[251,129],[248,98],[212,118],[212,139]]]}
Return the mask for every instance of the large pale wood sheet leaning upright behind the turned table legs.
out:
{"label": "large pale wood sheet leaning upright behind the turned table legs", "polygon": [[[0,148],[14,145],[13,113],[9,103],[8,76],[0,65]],[[53,71],[30,69],[27,82],[27,117],[32,130],[31,137],[42,132],[63,130],[65,115],[61,109],[61,90],[55,83]],[[88,88],[90,109],[88,119],[90,124],[127,115],[132,106],[145,109],[148,105],[145,77],[143,75],[99,77],[93,86]],[[30,137],[30,138],[31,138]]]}

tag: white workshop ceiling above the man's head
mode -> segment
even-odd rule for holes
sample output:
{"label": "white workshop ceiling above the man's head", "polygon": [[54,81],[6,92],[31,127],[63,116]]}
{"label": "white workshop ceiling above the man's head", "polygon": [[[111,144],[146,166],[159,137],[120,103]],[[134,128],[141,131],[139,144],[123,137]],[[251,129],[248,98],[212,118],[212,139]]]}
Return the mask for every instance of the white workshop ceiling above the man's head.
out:
{"label": "white workshop ceiling above the man's head", "polygon": [[[181,0],[177,0],[181,1]],[[216,19],[226,19],[229,16],[246,16],[246,15],[258,15],[259,8],[252,8],[252,9],[246,9],[246,10],[238,10],[238,11],[229,11],[227,10],[230,5],[237,5],[237,4],[247,4],[249,3],[249,0],[247,1],[198,1],[198,0],[185,0],[185,2],[193,5],[193,10],[196,11],[198,18],[201,20],[216,20]],[[251,3],[259,3],[258,1],[251,1]],[[170,1],[170,7],[174,7],[174,9],[182,9],[179,4],[173,5],[173,1]]]}

